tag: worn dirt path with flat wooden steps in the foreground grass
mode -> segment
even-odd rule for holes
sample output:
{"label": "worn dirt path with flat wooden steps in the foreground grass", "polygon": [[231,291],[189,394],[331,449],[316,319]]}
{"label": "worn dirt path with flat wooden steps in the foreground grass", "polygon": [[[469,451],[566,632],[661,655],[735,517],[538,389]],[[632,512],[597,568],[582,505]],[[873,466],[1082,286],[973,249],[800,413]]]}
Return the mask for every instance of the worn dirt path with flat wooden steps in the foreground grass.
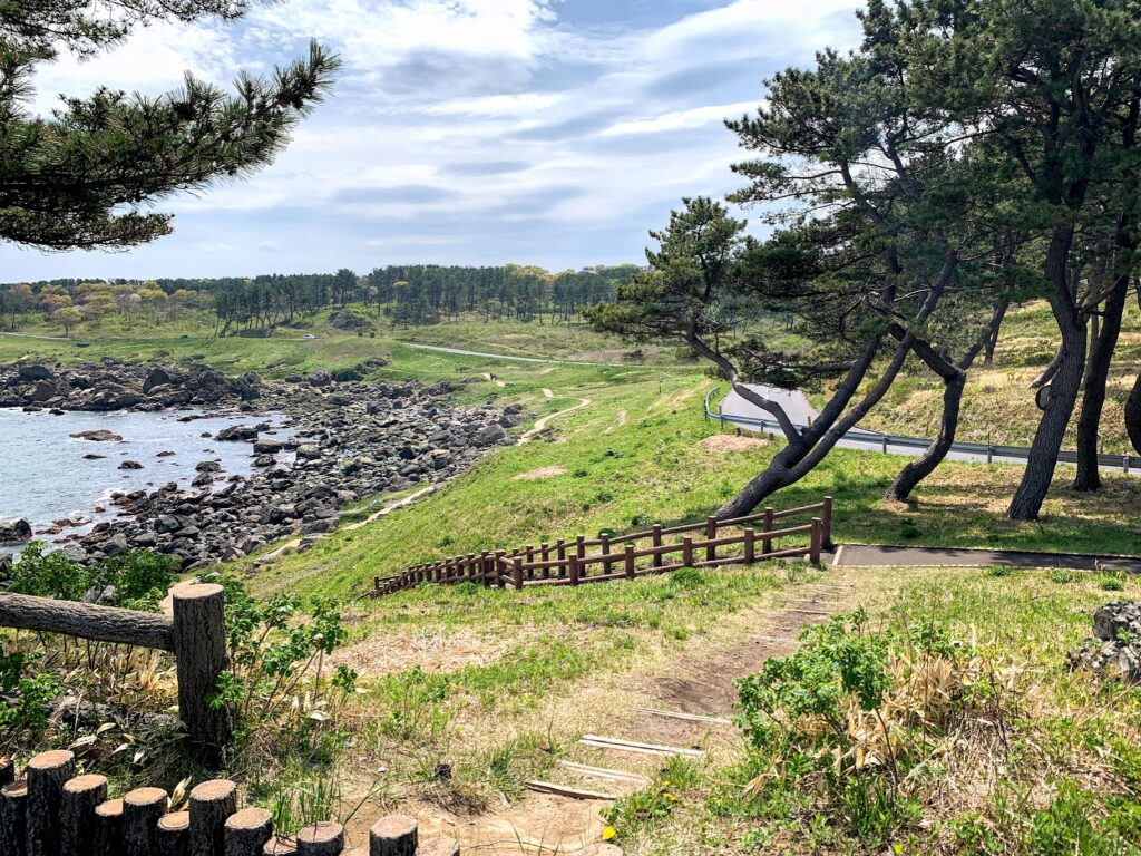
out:
{"label": "worn dirt path with flat wooden steps in the foreground grass", "polygon": [[[578,733],[588,736],[586,743],[567,742],[544,781],[580,791],[580,798],[528,790],[521,801],[483,814],[451,814],[427,802],[408,807],[410,814],[421,818],[426,833],[459,839],[464,853],[581,853],[601,839],[601,810],[614,797],[653,782],[671,752],[698,765],[739,758],[741,737],[730,720],[734,681],[755,673],[769,657],[794,651],[803,628],[852,607],[863,593],[860,582],[858,572],[832,568],[816,581],[775,591],[763,608],[727,616],[680,652],[663,652],[647,672],[604,672],[552,700],[547,727],[568,741]],[[501,730],[508,740],[513,729],[534,725],[503,722]],[[602,798],[585,798],[586,792]]]}

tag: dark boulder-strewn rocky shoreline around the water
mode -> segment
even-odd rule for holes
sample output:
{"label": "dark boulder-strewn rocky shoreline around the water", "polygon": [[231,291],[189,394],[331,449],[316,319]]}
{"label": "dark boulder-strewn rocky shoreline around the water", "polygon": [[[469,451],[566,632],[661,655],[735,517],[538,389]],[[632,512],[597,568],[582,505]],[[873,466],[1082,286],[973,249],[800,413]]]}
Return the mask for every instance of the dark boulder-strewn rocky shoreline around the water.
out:
{"label": "dark boulder-strewn rocky shoreline around the water", "polygon": [[[79,562],[151,549],[178,557],[184,570],[193,571],[284,538],[300,536],[304,548],[337,527],[345,506],[446,482],[495,446],[513,442],[507,429],[523,421],[517,405],[456,409],[446,398],[458,387],[447,381],[426,386],[354,379],[379,365],[373,361],[338,373],[340,381],[317,370],[283,382],[253,372],[228,378],[201,363],[106,358],[74,366],[0,365],[0,406],[57,414],[173,410],[187,411],[180,417],[186,421],[248,415],[212,439],[249,444],[250,475],[227,476],[217,461],[200,461],[191,490],[169,483],[114,493],[120,509],[114,519],[52,542]],[[266,421],[269,415],[288,418],[288,436]],[[17,524],[0,528],[10,525],[26,534]]]}

